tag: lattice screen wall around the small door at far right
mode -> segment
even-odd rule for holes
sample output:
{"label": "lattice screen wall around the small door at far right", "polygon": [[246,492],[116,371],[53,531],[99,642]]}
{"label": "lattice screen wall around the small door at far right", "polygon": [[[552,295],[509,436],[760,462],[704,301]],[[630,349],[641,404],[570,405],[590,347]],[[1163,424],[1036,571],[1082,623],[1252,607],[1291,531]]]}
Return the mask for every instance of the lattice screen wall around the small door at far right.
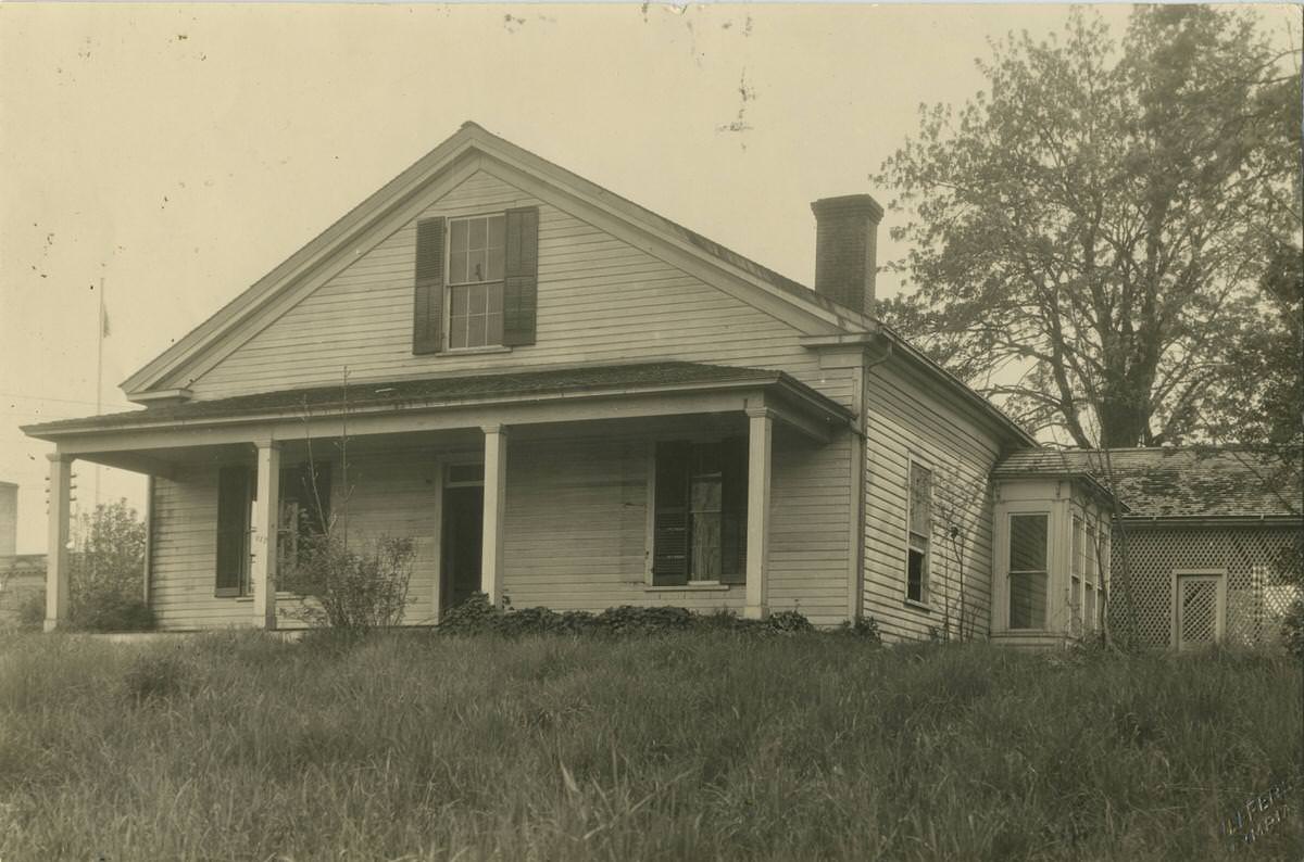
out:
{"label": "lattice screen wall around the small door at far right", "polygon": [[1264,646],[1281,642],[1282,617],[1300,595],[1295,531],[1133,525],[1124,530],[1125,542],[1115,531],[1112,544],[1114,582],[1108,611],[1112,629],[1121,634],[1134,620],[1142,645],[1170,646],[1174,572],[1224,569],[1226,641]]}

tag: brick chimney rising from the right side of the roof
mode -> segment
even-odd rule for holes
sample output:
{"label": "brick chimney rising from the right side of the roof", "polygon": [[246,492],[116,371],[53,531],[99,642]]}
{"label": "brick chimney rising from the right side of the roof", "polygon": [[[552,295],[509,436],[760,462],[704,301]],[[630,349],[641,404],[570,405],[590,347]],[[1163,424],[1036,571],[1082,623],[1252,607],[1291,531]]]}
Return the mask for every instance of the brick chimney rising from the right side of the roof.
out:
{"label": "brick chimney rising from the right side of the roof", "polygon": [[874,314],[879,221],[883,207],[867,194],[822,198],[815,214],[815,293]]}

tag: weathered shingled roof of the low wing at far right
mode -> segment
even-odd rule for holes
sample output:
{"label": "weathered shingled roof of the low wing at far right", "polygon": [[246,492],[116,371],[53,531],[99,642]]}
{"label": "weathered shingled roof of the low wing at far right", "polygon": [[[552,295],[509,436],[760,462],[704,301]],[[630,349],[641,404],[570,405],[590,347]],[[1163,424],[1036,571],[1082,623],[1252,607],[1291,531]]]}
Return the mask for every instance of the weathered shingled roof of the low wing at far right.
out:
{"label": "weathered shingled roof of the low wing at far right", "polygon": [[992,475],[1089,473],[1140,518],[1300,517],[1300,451],[1249,447],[1029,449]]}

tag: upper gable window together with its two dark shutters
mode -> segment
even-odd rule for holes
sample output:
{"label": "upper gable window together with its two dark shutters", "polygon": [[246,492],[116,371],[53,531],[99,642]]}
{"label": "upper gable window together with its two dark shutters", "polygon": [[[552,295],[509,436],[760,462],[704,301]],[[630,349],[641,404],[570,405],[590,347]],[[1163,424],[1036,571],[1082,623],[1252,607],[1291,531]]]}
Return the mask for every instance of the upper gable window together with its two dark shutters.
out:
{"label": "upper gable window together with its two dark shutters", "polygon": [[535,344],[539,207],[417,223],[412,352]]}

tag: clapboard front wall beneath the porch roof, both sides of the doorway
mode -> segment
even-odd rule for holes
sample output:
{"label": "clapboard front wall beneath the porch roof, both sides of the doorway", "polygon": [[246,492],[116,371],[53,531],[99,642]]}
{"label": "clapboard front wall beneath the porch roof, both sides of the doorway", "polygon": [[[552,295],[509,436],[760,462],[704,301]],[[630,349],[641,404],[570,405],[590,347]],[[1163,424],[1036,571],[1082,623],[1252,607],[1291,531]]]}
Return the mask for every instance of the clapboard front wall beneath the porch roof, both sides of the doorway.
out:
{"label": "clapboard front wall beneath the porch roof, both sides of the doorway", "polygon": [[[686,423],[685,430],[691,427]],[[503,591],[514,607],[602,611],[634,604],[741,612],[742,585],[725,590],[648,589],[648,438],[509,438],[507,445]],[[822,625],[836,625],[848,616],[849,453],[845,434],[824,447],[795,439],[775,447],[772,611],[799,608]],[[422,449],[368,453],[353,460],[348,475],[351,538],[363,542],[387,534],[416,539],[407,615],[407,622],[415,625],[433,621],[438,456]],[[340,513],[346,486],[338,465],[334,471],[339,477],[334,505]],[[159,479],[155,488],[151,602],[160,628],[253,625],[252,602],[213,595],[216,467]]]}

